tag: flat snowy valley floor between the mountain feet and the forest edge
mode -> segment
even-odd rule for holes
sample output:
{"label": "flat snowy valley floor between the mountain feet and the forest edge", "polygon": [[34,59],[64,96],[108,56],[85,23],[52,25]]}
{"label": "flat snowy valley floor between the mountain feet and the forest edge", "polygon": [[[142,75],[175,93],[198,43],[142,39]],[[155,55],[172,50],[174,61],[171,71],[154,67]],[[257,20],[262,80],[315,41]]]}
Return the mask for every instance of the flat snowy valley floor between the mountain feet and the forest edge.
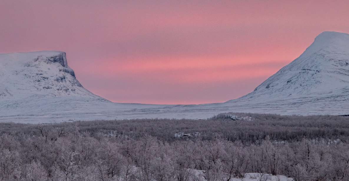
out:
{"label": "flat snowy valley floor between the mountain feet and the forest edge", "polygon": [[143,118],[207,119],[224,112],[280,115],[347,115],[348,96],[302,97],[282,101],[234,100],[199,105],[152,105],[113,103],[82,97],[32,96],[0,101],[0,122],[58,123],[76,120],[122,120]]}

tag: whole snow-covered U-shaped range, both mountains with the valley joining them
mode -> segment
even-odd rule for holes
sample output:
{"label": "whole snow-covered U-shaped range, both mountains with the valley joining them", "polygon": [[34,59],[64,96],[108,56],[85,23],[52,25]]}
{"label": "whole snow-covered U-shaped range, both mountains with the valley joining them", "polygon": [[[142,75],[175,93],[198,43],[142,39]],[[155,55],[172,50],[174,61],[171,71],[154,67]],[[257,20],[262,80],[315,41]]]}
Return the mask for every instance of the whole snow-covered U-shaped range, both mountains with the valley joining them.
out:
{"label": "whole snow-covered U-shaped range, both mountains with the valley joining them", "polygon": [[[64,52],[0,54],[0,121],[208,118],[223,112],[349,114],[349,34],[323,32],[253,92],[225,103],[113,103],[83,88]],[[234,90],[232,90],[234,91]]]}

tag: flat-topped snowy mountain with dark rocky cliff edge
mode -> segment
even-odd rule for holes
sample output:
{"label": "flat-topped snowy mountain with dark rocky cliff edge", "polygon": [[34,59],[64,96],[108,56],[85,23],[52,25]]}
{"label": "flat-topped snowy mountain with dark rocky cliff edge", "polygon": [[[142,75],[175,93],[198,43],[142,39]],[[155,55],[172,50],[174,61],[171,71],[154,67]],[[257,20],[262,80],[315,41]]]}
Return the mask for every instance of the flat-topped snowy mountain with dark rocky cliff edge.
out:
{"label": "flat-topped snowy mountain with dark rocky cliff edge", "polygon": [[0,100],[31,96],[103,99],[82,87],[64,52],[0,54],[0,69]]}

